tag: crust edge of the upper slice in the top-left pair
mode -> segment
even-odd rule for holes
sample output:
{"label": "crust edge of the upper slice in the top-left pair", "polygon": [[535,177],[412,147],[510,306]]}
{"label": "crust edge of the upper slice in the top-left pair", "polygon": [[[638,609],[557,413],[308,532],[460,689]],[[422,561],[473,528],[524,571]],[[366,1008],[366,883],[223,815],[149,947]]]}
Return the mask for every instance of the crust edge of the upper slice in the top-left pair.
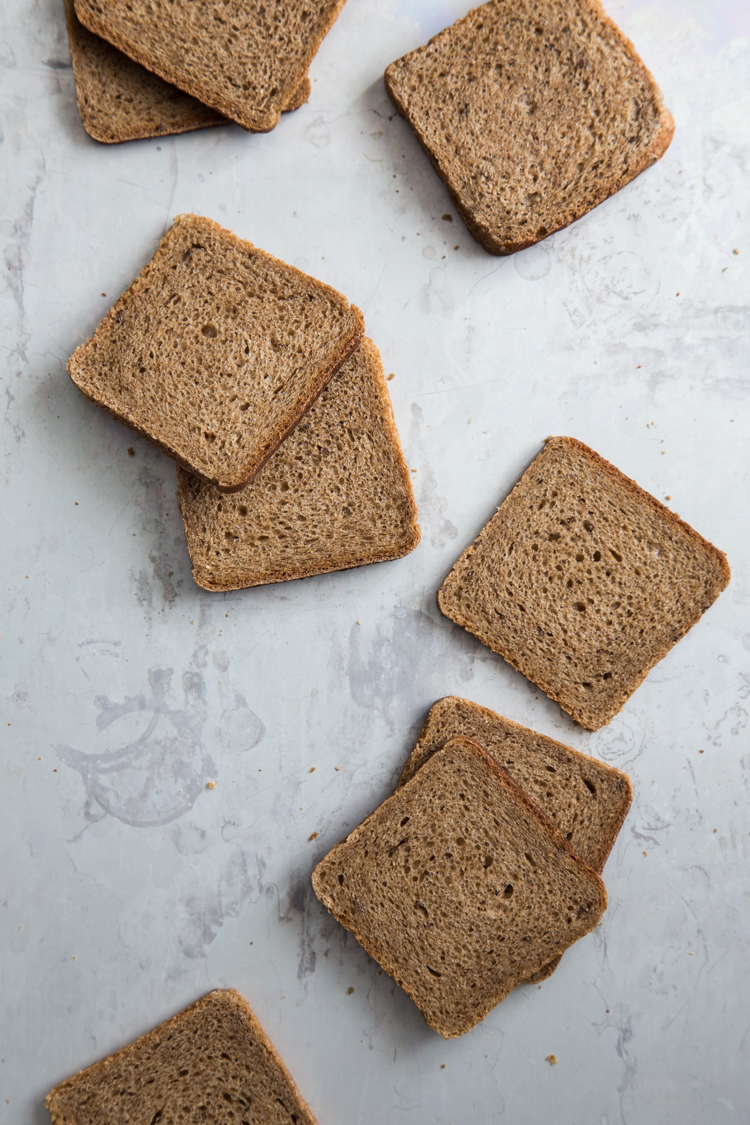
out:
{"label": "crust edge of the upper slice in the top-left pair", "polygon": [[[75,15],[83,26],[87,27],[93,35],[99,35],[102,39],[111,43],[114,47],[121,51],[123,54],[128,56],[128,58],[132,58],[134,62],[145,66],[146,70],[152,71],[154,74],[159,74],[159,76],[163,78],[165,82],[171,82],[172,86],[175,86],[178,90],[183,90],[186,93],[192,94],[192,97],[197,98],[198,101],[202,101],[205,106],[209,106],[209,108],[215,109],[225,117],[228,117],[249,133],[270,133],[271,129],[275,128],[279,124],[281,114],[287,108],[287,105],[290,105],[290,108],[292,109],[299,108],[298,106],[291,105],[295,100],[295,94],[297,93],[300,83],[305,81],[310,63],[318,53],[324,38],[338,18],[341,9],[344,7],[345,2],[346,0],[337,0],[337,2],[332,6],[329,19],[322,26],[318,35],[310,39],[300,64],[296,68],[296,70],[289,73],[286,82],[281,82],[279,97],[274,101],[273,108],[269,109],[265,114],[255,112],[254,115],[244,112],[242,108],[237,109],[232,102],[225,100],[223,97],[214,97],[210,90],[202,87],[199,88],[199,86],[190,79],[186,80],[170,66],[165,66],[157,55],[147,54],[137,43],[126,39],[125,36],[117,35],[117,33],[109,32],[107,29],[106,21],[98,19],[94,14],[87,10],[84,12],[84,18],[81,14],[82,4],[81,8],[79,8],[78,3],[75,4]],[[210,47],[210,42],[208,45]]]}

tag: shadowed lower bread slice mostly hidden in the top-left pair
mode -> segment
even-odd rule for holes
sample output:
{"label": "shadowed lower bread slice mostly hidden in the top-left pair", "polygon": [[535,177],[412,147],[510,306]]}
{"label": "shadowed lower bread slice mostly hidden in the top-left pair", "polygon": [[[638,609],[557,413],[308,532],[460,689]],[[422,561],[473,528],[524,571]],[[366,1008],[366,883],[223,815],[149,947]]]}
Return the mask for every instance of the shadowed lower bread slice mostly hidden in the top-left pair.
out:
{"label": "shadowed lower bread slice mostly hidden in the top-left pair", "polygon": [[83,128],[94,141],[115,144],[227,124],[215,109],[88,32],[73,0],[64,4],[78,108]]}

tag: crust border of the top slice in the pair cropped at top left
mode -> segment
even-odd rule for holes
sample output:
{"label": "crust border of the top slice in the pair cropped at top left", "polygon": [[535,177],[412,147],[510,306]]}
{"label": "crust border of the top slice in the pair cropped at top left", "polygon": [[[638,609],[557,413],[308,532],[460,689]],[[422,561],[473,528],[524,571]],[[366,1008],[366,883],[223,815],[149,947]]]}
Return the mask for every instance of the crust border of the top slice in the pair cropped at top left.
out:
{"label": "crust border of the top slice in the pair cropped at top left", "polygon": [[[240,94],[236,98],[227,98],[220,90],[208,83],[197,81],[186,70],[170,63],[159,52],[150,50],[147,45],[138,42],[136,37],[127,35],[121,27],[118,29],[116,15],[112,11],[115,0],[109,0],[109,11],[105,12],[98,11],[94,4],[87,3],[87,0],[76,0],[75,14],[83,26],[90,32],[111,43],[118,51],[121,51],[123,54],[126,54],[146,70],[159,74],[165,82],[170,82],[179,90],[184,90],[186,93],[197,98],[205,106],[210,106],[211,109],[215,109],[224,117],[228,117],[250,133],[270,133],[279,124],[281,114],[288,106],[291,109],[298,108],[298,105],[295,102],[297,102],[299,91],[307,78],[310,63],[317,54],[323,39],[333,27],[344,3],[345,0],[333,0],[333,2],[328,0],[328,10],[324,22],[319,26],[318,33],[310,38],[300,62],[281,81],[278,94],[273,99],[271,108],[266,111],[253,110],[251,106],[243,101]],[[186,44],[187,46],[188,44]],[[208,36],[206,46],[210,48],[210,38]],[[304,100],[307,99],[305,98]],[[299,102],[299,105],[301,104]]]}

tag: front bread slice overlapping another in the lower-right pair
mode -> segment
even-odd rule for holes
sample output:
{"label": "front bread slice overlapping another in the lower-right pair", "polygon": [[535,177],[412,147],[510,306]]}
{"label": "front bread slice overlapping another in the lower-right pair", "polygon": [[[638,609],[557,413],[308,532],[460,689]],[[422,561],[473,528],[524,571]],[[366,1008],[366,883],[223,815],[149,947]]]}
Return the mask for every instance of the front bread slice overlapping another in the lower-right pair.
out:
{"label": "front bread slice overlapping another in the lower-right pair", "polygon": [[442,1035],[588,934],[604,883],[477,742],[453,738],[337,844],[315,893]]}

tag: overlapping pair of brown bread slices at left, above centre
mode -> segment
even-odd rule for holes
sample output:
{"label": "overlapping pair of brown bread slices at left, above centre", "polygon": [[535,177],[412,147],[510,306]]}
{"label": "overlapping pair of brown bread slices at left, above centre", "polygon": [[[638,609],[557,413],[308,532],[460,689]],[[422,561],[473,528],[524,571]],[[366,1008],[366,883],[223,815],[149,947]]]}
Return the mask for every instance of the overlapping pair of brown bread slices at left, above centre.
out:
{"label": "overlapping pair of brown bread slices at left, above centre", "polygon": [[417,511],[382,364],[345,297],[180,215],[71,357],[178,465],[196,582],[226,591],[400,558]]}

